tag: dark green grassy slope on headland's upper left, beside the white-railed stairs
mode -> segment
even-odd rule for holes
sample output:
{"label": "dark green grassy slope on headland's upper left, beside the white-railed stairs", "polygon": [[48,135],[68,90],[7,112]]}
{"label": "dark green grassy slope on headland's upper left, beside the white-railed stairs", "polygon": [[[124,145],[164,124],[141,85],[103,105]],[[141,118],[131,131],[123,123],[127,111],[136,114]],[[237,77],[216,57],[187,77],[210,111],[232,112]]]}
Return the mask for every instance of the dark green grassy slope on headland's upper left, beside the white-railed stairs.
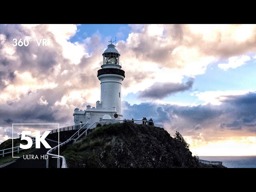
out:
{"label": "dark green grassy slope on headland's upper left, beside the white-railed stairs", "polygon": [[131,136],[131,134],[135,134],[130,132],[126,126],[129,126],[130,128],[132,126],[132,128],[135,130],[147,127],[147,125],[130,123],[127,125],[123,123],[115,123],[98,126],[94,128],[86,137],[68,146],[68,148],[66,148],[61,155],[66,158],[68,166],[70,166],[70,164],[73,166],[75,164],[82,164],[84,159],[86,159],[87,166],[93,168],[98,167],[100,163],[100,157],[97,154],[105,151],[105,160],[106,162],[110,162],[113,159],[112,154],[110,153],[113,136],[117,134],[122,134],[123,136]]}

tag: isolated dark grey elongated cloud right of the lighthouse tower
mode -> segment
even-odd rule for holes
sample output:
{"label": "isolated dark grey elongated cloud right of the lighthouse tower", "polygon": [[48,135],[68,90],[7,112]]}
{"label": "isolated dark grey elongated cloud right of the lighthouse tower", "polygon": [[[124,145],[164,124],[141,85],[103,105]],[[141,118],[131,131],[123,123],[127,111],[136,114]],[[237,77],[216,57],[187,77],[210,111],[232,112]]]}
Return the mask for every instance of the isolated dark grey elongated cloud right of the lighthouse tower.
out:
{"label": "isolated dark grey elongated cloud right of the lighthouse tower", "polygon": [[192,88],[193,78],[189,78],[186,83],[154,83],[146,90],[139,93],[140,98],[162,99],[177,92],[184,92]]}

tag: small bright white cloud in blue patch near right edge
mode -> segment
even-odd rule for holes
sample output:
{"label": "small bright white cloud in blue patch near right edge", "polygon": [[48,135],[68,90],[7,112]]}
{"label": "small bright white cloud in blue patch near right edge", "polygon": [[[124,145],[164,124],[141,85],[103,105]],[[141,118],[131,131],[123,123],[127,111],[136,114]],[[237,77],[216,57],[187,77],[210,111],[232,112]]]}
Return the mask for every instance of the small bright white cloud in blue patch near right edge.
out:
{"label": "small bright white cloud in blue patch near right edge", "polygon": [[237,68],[239,66],[242,66],[245,64],[246,61],[250,61],[250,57],[247,55],[242,55],[240,57],[234,56],[228,58],[228,63],[227,64],[218,64],[218,67],[224,70],[227,70],[228,68]]}

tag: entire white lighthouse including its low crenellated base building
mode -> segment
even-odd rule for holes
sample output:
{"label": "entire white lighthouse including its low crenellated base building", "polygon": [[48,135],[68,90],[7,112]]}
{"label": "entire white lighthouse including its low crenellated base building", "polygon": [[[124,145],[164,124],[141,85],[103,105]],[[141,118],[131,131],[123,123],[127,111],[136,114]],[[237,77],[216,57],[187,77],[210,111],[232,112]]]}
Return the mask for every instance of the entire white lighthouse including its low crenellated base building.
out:
{"label": "entire white lighthouse including its low crenellated base building", "polygon": [[75,108],[73,114],[74,124],[79,124],[80,122],[92,124],[100,120],[122,119],[121,90],[125,76],[124,70],[121,70],[120,54],[111,42],[102,56],[102,69],[98,70],[100,101],[96,102],[95,107],[87,105],[85,110]]}

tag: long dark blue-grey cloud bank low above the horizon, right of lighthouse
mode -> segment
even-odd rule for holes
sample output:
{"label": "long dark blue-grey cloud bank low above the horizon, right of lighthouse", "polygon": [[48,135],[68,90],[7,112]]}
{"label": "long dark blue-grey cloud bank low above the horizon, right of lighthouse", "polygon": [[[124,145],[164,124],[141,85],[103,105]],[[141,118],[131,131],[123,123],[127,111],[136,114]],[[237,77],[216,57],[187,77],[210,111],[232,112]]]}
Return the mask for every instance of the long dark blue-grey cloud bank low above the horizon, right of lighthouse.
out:
{"label": "long dark blue-grey cloud bank low above the horizon, right of lighthouse", "polygon": [[[171,135],[177,130],[184,136],[206,142],[231,136],[255,136],[256,92],[229,95],[219,105],[178,106],[144,102],[122,102],[124,118],[152,118],[156,126]],[[200,137],[198,137],[200,135]]]}

